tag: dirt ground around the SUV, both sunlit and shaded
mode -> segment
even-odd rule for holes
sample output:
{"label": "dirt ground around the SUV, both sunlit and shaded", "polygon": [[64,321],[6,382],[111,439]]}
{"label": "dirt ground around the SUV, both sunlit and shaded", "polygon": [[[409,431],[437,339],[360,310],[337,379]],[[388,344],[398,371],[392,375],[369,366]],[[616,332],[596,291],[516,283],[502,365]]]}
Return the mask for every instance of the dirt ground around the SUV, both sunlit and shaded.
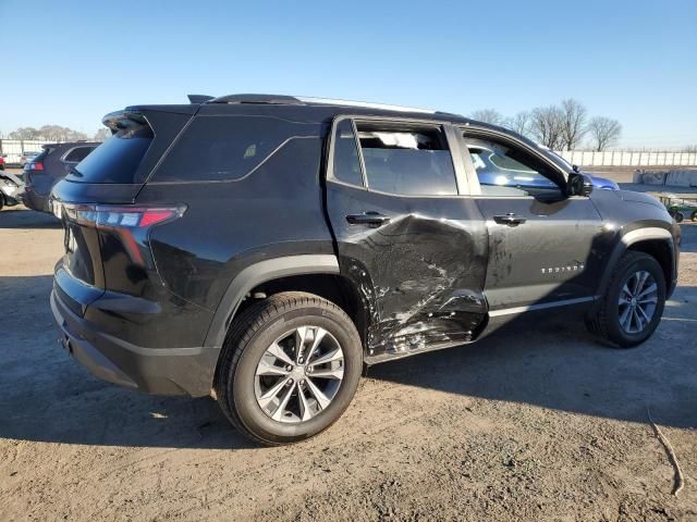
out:
{"label": "dirt ground around the SUV, both sunlit and shaded", "polygon": [[139,395],[71,360],[48,307],[62,231],[7,209],[0,521],[697,520],[697,225],[683,231],[680,287],[644,346],[526,320],[371,369],[329,431],[269,449],[211,399]]}

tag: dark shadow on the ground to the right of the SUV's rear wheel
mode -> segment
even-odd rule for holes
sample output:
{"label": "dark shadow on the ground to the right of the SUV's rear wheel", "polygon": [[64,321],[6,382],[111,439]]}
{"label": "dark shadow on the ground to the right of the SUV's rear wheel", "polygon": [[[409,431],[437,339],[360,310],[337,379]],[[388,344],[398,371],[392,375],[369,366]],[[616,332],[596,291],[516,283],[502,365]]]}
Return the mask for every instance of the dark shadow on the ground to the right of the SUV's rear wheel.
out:
{"label": "dark shadow on the ground to the right of the SUV's rear wheel", "polygon": [[[678,288],[634,349],[598,343],[580,321],[538,316],[470,346],[371,369],[374,378],[560,411],[697,427],[697,288]],[[542,324],[536,325],[535,322]]]}

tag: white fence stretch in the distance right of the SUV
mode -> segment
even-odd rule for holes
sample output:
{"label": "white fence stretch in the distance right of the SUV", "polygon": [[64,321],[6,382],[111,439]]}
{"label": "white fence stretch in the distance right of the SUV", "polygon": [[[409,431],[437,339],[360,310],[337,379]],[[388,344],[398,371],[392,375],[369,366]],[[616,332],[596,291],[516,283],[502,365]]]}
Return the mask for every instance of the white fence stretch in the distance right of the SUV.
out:
{"label": "white fence stretch in the distance right of the SUV", "polygon": [[565,150],[557,152],[580,166],[697,166],[697,152],[624,152]]}

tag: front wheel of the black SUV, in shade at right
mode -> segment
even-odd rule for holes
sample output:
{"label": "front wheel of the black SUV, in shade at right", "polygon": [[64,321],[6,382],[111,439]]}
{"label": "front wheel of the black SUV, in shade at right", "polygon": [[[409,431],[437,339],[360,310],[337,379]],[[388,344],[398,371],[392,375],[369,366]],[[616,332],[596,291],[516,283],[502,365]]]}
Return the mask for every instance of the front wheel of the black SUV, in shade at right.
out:
{"label": "front wheel of the black SUV, in shade at right", "polygon": [[627,251],[586,324],[613,345],[632,348],[653,334],[664,306],[665,277],[661,265],[644,252]]}

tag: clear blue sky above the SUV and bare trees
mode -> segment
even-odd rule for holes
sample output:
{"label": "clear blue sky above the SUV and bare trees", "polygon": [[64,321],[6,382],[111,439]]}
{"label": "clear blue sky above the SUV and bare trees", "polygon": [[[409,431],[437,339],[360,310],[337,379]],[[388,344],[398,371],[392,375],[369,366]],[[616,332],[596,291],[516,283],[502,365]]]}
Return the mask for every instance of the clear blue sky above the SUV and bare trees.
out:
{"label": "clear blue sky above the SUV and bare trees", "polygon": [[563,98],[623,146],[697,144],[697,1],[0,0],[0,130],[186,94],[511,115]]}

